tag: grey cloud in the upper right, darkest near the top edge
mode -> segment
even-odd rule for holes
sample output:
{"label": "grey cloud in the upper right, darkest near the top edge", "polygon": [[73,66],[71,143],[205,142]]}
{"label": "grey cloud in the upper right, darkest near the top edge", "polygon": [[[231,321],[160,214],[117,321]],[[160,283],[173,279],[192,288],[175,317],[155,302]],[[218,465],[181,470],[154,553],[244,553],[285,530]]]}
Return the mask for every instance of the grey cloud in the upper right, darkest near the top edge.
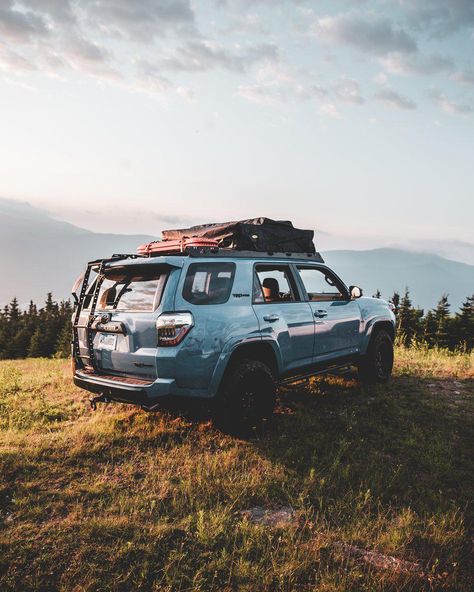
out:
{"label": "grey cloud in the upper right, darkest near the top edge", "polygon": [[338,45],[350,45],[371,55],[417,51],[415,39],[386,18],[362,19],[340,14],[317,19],[313,33]]}

